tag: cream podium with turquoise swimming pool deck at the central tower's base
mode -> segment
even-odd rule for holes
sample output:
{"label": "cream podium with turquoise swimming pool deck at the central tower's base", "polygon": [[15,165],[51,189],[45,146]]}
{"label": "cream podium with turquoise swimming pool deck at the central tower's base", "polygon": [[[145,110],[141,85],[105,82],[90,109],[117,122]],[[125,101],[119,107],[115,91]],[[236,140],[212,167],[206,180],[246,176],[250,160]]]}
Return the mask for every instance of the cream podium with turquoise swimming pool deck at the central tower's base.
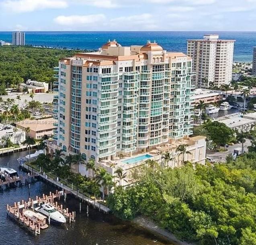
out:
{"label": "cream podium with turquoise swimming pool deck at the central tower's base", "polygon": [[[134,182],[133,173],[139,171],[139,167],[147,164],[148,159],[158,162],[160,165],[167,165],[164,163],[163,153],[170,152],[172,159],[168,163],[168,167],[181,167],[183,161],[182,153],[176,151],[177,147],[181,144],[187,145],[186,151],[190,152],[184,155],[185,161],[191,163],[205,164],[206,159],[206,141],[203,136],[185,137],[172,144],[156,147],[156,149],[149,149],[146,153],[135,153],[132,157],[119,155],[113,160],[96,161],[96,167],[106,169],[112,176],[115,176],[117,168],[121,167],[127,176],[125,180],[121,180],[122,186],[130,185]],[[61,149],[57,146],[57,141],[47,141],[46,154],[53,156],[55,149]],[[74,154],[74,153],[71,153]],[[86,170],[85,164],[72,165],[72,171],[80,173],[83,176],[92,177],[92,170]],[[115,178],[115,177],[114,177]]]}

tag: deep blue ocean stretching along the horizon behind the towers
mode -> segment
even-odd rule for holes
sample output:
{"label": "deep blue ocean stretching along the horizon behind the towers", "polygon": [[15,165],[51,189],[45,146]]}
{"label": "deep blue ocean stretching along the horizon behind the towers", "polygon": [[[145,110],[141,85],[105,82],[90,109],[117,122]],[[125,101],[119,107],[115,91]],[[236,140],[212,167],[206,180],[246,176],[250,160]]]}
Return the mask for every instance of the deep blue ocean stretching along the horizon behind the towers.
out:
{"label": "deep blue ocean stretching along the horizon behind the towers", "polygon": [[[204,34],[217,33],[221,39],[235,39],[234,61],[252,62],[256,32],[157,32],[157,31],[95,31],[95,32],[26,32],[26,44],[35,46],[89,49],[101,47],[109,39],[121,45],[144,45],[156,41],[167,51],[186,53],[186,39],[202,39]],[[0,40],[11,42],[11,32],[0,32]]]}

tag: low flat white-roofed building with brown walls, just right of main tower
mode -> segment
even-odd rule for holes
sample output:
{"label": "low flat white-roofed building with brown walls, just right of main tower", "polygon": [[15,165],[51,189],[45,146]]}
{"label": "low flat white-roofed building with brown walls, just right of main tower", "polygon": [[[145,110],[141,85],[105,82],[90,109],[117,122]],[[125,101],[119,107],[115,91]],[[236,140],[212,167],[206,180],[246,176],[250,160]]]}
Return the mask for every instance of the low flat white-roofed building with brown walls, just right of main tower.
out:
{"label": "low flat white-roofed building with brown walls, just right of main tower", "polygon": [[223,92],[199,88],[195,90],[192,98],[194,100],[193,104],[198,104],[200,100],[205,104],[215,103],[223,100]]}

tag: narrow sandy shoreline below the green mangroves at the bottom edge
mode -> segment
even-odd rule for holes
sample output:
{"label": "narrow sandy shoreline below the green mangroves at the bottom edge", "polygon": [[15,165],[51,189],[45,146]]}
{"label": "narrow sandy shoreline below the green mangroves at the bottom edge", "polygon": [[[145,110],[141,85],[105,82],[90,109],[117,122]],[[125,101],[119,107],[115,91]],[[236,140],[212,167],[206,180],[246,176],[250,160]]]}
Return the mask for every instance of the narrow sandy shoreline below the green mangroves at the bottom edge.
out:
{"label": "narrow sandy shoreline below the green mangroves at the bottom edge", "polygon": [[133,222],[136,225],[142,226],[143,228],[152,231],[153,233],[162,235],[163,237],[170,240],[173,245],[195,245],[193,243],[187,243],[187,242],[184,242],[184,241],[180,241],[172,233],[170,233],[169,231],[167,231],[165,229],[162,229],[161,227],[156,225],[154,222],[152,222],[150,219],[145,218],[143,216],[139,216],[139,217],[135,218],[133,220]]}

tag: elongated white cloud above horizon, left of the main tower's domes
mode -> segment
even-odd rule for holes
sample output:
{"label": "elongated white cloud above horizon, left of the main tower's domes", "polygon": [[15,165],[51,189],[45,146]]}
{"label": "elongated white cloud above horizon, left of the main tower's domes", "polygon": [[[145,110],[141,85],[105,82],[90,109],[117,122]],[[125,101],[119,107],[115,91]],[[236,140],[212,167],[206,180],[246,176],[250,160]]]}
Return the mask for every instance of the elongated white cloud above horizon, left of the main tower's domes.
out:
{"label": "elongated white cloud above horizon, left of the main tower's domes", "polygon": [[96,22],[102,22],[105,20],[104,14],[89,14],[89,15],[60,15],[54,19],[54,22],[63,26],[69,27],[81,27],[88,24],[94,24]]}

